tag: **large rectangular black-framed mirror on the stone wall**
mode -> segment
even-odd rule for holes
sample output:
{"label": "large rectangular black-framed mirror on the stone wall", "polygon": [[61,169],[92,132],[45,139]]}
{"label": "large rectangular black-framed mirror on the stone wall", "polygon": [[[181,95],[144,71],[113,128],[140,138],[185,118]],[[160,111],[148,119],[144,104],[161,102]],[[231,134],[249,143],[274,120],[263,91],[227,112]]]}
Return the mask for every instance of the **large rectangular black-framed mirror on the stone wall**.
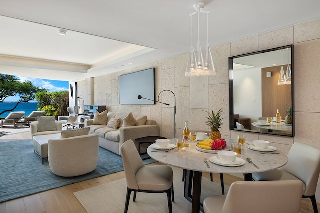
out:
{"label": "large rectangular black-framed mirror on the stone wall", "polygon": [[293,69],[293,45],[229,57],[230,130],[293,137]]}

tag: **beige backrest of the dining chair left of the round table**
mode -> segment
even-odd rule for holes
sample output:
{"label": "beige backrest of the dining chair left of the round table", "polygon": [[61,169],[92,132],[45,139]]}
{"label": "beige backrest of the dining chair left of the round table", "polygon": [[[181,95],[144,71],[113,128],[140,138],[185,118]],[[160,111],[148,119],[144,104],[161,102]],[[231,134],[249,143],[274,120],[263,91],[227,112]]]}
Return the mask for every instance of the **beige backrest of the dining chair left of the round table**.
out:
{"label": "beige backrest of the dining chair left of the round table", "polygon": [[134,142],[132,140],[128,140],[127,142],[121,146],[126,184],[128,188],[137,190],[139,187],[136,183],[135,174],[140,168],[144,167],[144,164]]}

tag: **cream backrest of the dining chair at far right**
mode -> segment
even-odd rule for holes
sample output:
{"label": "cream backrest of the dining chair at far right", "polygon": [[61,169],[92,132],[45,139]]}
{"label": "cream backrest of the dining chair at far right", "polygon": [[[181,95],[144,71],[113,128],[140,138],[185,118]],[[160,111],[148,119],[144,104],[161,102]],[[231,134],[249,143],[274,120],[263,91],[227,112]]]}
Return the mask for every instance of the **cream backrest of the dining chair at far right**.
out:
{"label": "cream backrest of the dining chair at far right", "polygon": [[304,195],[314,195],[320,173],[320,149],[295,142],[287,157],[288,163],[280,170],[284,170],[304,182]]}

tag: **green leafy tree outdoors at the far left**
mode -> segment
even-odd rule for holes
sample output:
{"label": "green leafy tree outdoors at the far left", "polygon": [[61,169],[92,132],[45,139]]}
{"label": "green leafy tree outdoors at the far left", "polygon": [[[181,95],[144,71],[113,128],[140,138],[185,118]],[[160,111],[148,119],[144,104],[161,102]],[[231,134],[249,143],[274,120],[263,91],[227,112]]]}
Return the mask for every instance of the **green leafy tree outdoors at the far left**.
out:
{"label": "green leafy tree outdoors at the far left", "polygon": [[12,109],[6,109],[0,112],[2,115],[5,112],[13,111],[19,103],[29,102],[35,98],[37,92],[46,91],[40,87],[34,86],[32,81],[20,82],[16,76],[0,74],[0,103],[6,98],[18,95],[20,99]]}

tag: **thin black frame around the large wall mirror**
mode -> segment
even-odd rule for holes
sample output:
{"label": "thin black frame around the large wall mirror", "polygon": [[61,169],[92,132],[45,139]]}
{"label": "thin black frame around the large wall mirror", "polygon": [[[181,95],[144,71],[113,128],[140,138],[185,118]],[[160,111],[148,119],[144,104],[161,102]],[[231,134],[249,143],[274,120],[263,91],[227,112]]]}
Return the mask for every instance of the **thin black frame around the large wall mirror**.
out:
{"label": "thin black frame around the large wall mirror", "polygon": [[[254,131],[254,130],[243,130],[243,129],[237,129],[234,126],[234,103],[233,103],[233,59],[234,58],[239,58],[239,57],[244,57],[244,56],[249,56],[249,55],[255,55],[255,54],[260,54],[260,53],[265,53],[265,52],[271,52],[271,51],[276,51],[280,49],[286,49],[286,48],[291,48],[291,100],[292,100],[292,135],[285,135],[285,134],[275,134],[275,133],[268,133],[268,132],[259,132],[259,131]],[[293,51],[293,45],[286,45],[282,47],[277,47],[277,48],[272,48],[272,49],[266,49],[262,51],[257,51],[257,52],[251,52],[251,53],[246,53],[242,55],[237,55],[237,56],[232,56],[229,57],[229,124],[230,124],[230,130],[237,130],[237,131],[244,131],[244,132],[251,132],[251,133],[261,133],[261,134],[270,134],[270,135],[278,135],[278,136],[288,136],[288,137],[294,137],[294,126],[295,126],[295,121],[294,121],[294,51]]]}

